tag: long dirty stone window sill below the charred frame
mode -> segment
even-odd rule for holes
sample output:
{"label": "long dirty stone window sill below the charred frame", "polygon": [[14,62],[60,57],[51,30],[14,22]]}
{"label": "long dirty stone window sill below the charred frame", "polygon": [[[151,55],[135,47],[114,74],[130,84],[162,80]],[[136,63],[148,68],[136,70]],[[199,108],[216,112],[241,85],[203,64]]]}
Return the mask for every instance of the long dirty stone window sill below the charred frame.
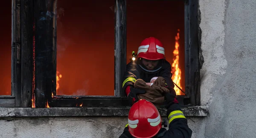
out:
{"label": "long dirty stone window sill below the charred frame", "polygon": [[[19,108],[0,107],[0,117],[23,116],[127,116],[130,107],[51,107],[51,108]],[[182,107],[185,116],[208,116],[209,107]],[[166,109],[160,108],[160,114],[166,116]]]}

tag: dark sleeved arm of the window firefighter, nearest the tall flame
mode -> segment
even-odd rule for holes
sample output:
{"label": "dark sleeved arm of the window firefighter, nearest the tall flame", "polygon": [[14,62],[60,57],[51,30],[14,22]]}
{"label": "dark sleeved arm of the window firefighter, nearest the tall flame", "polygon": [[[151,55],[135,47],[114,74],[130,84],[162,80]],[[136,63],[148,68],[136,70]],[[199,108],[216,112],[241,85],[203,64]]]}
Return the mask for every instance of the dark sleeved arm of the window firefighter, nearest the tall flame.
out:
{"label": "dark sleeved arm of the window firefighter, nearest the tall flame", "polygon": [[166,62],[162,66],[162,70],[159,76],[162,76],[166,80],[166,84],[169,87],[174,87],[174,83],[172,82],[172,73],[171,73],[171,65],[169,62]]}

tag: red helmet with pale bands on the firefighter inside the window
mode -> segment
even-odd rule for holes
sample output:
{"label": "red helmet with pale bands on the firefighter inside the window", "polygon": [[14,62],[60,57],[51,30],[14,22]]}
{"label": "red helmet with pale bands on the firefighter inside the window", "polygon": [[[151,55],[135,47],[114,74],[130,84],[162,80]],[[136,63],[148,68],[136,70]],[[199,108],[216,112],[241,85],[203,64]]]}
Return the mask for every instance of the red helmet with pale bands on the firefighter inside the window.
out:
{"label": "red helmet with pale bands on the firefighter inside the window", "polygon": [[164,59],[162,43],[154,37],[144,39],[138,48],[137,57],[149,60]]}

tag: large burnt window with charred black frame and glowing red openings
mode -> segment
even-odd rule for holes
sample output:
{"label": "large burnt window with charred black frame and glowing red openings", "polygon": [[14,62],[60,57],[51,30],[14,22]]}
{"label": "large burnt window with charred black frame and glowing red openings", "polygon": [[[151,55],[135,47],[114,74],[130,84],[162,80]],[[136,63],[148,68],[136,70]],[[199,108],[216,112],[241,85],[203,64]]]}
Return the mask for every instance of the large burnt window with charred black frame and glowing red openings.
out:
{"label": "large burnt window with charred black frame and glowing red openings", "polygon": [[[138,10],[146,11],[145,3],[162,8],[143,16]],[[121,92],[126,62],[131,51],[137,51],[140,42],[152,34],[166,44],[171,63],[178,41],[179,54],[184,55],[178,62],[180,87],[186,92],[180,93],[180,103],[200,105],[195,0],[12,0],[12,12],[12,95],[0,96],[0,106],[129,106]],[[158,12],[165,17],[157,18]],[[164,29],[154,21],[156,27],[145,34],[147,16],[165,23]],[[175,41],[178,32],[180,38]]]}

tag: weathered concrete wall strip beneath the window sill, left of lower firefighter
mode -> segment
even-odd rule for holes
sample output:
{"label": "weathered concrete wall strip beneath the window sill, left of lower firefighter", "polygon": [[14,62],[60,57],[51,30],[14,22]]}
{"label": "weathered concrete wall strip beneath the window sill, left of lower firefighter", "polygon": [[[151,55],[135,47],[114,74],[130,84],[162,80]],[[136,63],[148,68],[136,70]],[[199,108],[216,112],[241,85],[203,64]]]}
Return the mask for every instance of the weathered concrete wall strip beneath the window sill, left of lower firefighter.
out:
{"label": "weathered concrete wall strip beneath the window sill, left of lower firefighter", "polygon": [[127,117],[5,118],[0,138],[118,138],[125,124]]}

